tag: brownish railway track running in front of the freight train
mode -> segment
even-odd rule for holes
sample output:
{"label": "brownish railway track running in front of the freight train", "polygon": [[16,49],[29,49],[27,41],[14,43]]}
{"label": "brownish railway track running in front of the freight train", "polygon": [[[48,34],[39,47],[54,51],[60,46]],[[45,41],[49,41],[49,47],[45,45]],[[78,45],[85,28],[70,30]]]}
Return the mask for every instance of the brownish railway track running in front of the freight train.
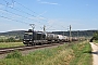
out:
{"label": "brownish railway track running in front of the freight train", "polygon": [[13,48],[0,48],[0,54],[10,53],[12,51],[19,50],[19,51],[25,51],[25,50],[34,50],[34,49],[40,49],[40,48],[47,48],[47,47],[53,47],[53,46],[60,46],[63,43],[50,43],[50,44],[42,44],[42,46],[33,46],[33,47],[13,47]]}

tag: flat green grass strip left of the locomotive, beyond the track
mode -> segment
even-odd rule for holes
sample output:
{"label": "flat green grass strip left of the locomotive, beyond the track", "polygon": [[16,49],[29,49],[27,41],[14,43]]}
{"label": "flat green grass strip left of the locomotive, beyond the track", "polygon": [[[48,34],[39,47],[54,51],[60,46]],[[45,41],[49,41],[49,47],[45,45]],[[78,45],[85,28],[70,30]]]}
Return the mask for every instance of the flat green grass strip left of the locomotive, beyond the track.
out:
{"label": "flat green grass strip left of the locomotive, beyond the track", "polygon": [[11,48],[24,46],[23,42],[0,42],[0,48]]}

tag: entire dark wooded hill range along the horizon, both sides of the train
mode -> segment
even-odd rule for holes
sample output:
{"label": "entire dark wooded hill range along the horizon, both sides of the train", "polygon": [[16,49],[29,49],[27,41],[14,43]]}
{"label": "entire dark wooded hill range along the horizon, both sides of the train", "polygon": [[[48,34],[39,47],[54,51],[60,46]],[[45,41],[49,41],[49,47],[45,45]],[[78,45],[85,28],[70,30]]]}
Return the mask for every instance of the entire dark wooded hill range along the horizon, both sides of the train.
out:
{"label": "entire dark wooded hill range along the horizon, both sides of the train", "polygon": [[[25,30],[15,30],[15,31],[8,31],[8,32],[0,32],[0,36],[17,36],[20,37],[21,39],[23,38],[24,36],[24,31]],[[96,32],[98,30],[79,30],[79,31],[72,31],[72,36],[73,37],[91,37],[94,35],[94,32]],[[58,35],[65,35],[65,36],[69,36],[70,35],[70,31],[52,31],[52,34],[58,34]]]}

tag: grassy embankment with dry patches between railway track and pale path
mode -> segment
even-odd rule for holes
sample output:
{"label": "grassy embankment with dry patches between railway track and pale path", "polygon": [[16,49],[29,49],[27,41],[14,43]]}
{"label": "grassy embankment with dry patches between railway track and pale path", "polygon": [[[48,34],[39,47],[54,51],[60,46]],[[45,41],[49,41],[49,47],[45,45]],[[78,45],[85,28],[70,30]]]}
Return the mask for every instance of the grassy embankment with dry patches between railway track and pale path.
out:
{"label": "grassy embankment with dry patches between railway track and pale path", "polygon": [[0,65],[91,65],[90,51],[88,42],[37,50],[25,56],[15,51],[0,60]]}

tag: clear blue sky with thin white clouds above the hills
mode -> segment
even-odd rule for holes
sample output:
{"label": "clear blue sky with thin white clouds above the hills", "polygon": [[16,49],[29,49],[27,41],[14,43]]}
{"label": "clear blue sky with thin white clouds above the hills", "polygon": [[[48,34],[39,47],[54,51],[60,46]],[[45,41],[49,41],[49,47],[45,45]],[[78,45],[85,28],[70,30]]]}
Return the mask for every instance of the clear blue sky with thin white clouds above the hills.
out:
{"label": "clear blue sky with thin white clouds above the hills", "polygon": [[0,31],[98,29],[98,0],[0,0]]}

